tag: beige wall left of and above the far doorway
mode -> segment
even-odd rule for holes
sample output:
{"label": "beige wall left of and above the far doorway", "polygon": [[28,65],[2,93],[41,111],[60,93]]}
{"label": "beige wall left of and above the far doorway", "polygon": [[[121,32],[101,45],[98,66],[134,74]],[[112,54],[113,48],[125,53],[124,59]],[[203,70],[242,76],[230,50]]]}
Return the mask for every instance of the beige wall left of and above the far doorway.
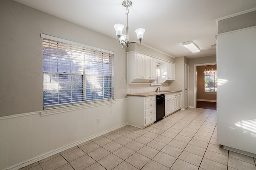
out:
{"label": "beige wall left of and above the far doorway", "polygon": [[216,63],[216,56],[209,56],[209,57],[199,57],[194,59],[189,59],[189,107],[194,106],[194,65],[196,64],[205,64],[205,63]]}

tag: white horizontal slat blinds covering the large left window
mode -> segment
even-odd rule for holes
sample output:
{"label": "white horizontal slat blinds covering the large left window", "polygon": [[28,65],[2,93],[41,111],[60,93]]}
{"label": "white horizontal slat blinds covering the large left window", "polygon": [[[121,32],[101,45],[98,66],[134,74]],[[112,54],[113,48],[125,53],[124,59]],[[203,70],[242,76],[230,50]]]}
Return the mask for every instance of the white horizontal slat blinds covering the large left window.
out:
{"label": "white horizontal slat blinds covering the large left window", "polygon": [[44,109],[114,98],[112,54],[43,38]]}

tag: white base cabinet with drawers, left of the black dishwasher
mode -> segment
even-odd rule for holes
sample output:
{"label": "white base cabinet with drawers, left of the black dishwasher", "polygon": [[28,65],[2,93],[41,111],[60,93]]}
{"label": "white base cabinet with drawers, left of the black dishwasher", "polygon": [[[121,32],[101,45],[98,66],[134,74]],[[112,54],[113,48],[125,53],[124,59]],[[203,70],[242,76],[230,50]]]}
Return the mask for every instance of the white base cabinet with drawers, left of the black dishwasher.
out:
{"label": "white base cabinet with drawers, left of the black dishwasher", "polygon": [[128,125],[143,129],[156,121],[156,96],[127,96]]}

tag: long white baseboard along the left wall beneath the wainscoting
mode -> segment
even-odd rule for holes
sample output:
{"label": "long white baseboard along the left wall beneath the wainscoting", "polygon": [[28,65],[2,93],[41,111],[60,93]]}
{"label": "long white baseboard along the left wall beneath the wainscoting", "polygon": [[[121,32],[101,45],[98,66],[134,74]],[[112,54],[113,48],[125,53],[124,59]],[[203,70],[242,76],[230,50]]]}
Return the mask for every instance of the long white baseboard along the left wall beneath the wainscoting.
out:
{"label": "long white baseboard along the left wall beneath the wainscoting", "polygon": [[19,168],[23,168],[23,167],[25,167],[25,166],[28,166],[28,165],[30,165],[30,164],[33,164],[33,163],[35,163],[35,162],[38,162],[38,161],[43,160],[43,159],[45,159],[45,158],[48,158],[49,156],[52,156],[52,155],[57,154],[57,153],[60,153],[60,152],[62,152],[62,151],[64,151],[64,150],[67,150],[67,149],[70,149],[70,148],[72,148],[72,147],[75,147],[75,146],[77,146],[77,145],[79,145],[79,144],[81,144],[81,143],[84,143],[84,142],[86,142],[86,141],[90,141],[91,139],[94,139],[94,138],[96,138],[96,137],[99,137],[99,136],[101,136],[101,135],[104,135],[104,134],[106,134],[106,133],[109,133],[109,132],[111,132],[111,131],[114,131],[114,130],[119,129],[119,128],[121,128],[121,127],[124,127],[124,126],[126,126],[126,125],[128,125],[128,122],[126,122],[126,123],[124,123],[124,124],[122,124],[122,125],[113,127],[113,128],[111,128],[111,129],[108,129],[108,130],[106,130],[106,131],[103,131],[103,132],[101,132],[101,133],[98,133],[98,134],[96,134],[96,135],[92,135],[92,136],[90,136],[90,137],[88,137],[88,138],[86,138],[86,139],[83,139],[83,140],[81,140],[81,141],[77,141],[77,142],[75,142],[75,143],[72,143],[72,144],[70,144],[70,145],[66,145],[66,146],[61,147],[61,148],[59,148],[59,149],[52,150],[52,151],[50,151],[50,152],[48,152],[48,153],[46,153],[46,154],[40,155],[40,156],[38,156],[38,157],[36,157],[36,158],[33,158],[33,159],[31,159],[31,160],[28,160],[28,161],[26,161],[26,162],[22,162],[22,163],[20,163],[20,164],[16,164],[16,165],[14,165],[14,166],[12,166],[12,167],[9,167],[8,170],[18,170]]}

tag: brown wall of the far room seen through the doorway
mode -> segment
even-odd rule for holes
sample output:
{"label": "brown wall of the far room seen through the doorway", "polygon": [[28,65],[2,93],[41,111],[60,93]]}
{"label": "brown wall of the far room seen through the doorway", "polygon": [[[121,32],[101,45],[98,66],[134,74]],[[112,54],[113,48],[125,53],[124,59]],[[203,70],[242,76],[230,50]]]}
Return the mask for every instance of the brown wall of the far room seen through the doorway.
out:
{"label": "brown wall of the far room seen through the doorway", "polygon": [[196,67],[196,99],[216,101],[216,93],[204,93],[204,70],[208,68],[213,68],[216,70],[217,65],[215,64]]}

